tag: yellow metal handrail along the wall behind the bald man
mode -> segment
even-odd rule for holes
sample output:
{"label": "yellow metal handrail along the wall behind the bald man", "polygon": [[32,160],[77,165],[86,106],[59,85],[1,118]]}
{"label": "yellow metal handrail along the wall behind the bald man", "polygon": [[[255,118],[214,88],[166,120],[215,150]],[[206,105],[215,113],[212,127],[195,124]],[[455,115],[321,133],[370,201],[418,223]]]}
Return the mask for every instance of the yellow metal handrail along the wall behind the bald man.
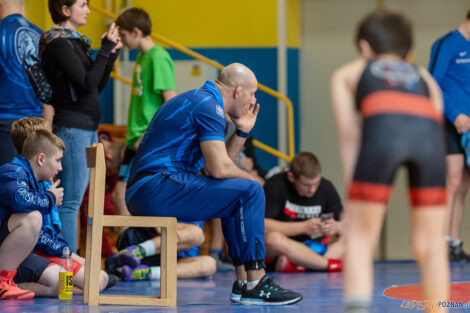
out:
{"label": "yellow metal handrail along the wall behind the bald man", "polygon": [[[97,13],[100,13],[106,17],[109,17],[111,18],[112,20],[116,20],[117,16],[116,14],[114,13],[111,13],[109,11],[106,11],[105,9],[101,8],[101,7],[98,7],[96,5],[94,5],[93,3],[89,3],[88,6],[96,11]],[[160,36],[158,34],[155,34],[155,33],[152,33],[151,34],[151,37],[165,45],[168,45],[186,55],[189,55],[197,60],[200,60],[206,64],[209,64],[219,70],[222,70],[224,68],[224,66],[218,62],[215,62],[209,58],[206,58],[205,56],[197,53],[197,52],[194,52],[188,48],[186,48],[185,46],[177,43],[177,42],[174,42],[170,39],[167,39],[163,36]],[[114,79],[117,79],[125,84],[128,84],[128,85],[132,85],[132,82],[122,76],[119,75],[118,71],[117,71],[117,68],[118,66],[115,66],[114,68],[114,71],[111,73],[111,77],[114,78]],[[267,153],[270,153],[278,158],[281,158],[283,160],[286,160],[288,162],[290,162],[292,160],[292,158],[294,157],[294,154],[295,154],[295,149],[294,149],[294,107],[292,105],[292,102],[290,101],[289,98],[287,98],[285,95],[283,94],[280,94],[279,92],[277,92],[276,90],[274,89],[271,89],[263,84],[259,84],[258,83],[258,89],[261,90],[261,91],[264,91],[265,93],[273,96],[273,97],[276,97],[278,99],[281,99],[284,101],[284,103],[286,104],[287,106],[287,132],[288,132],[288,139],[289,139],[289,142],[288,142],[288,154],[285,154],[285,153],[282,153],[281,151],[278,151],[256,139],[253,139],[253,145],[260,148],[261,150],[264,150],[266,151]]]}

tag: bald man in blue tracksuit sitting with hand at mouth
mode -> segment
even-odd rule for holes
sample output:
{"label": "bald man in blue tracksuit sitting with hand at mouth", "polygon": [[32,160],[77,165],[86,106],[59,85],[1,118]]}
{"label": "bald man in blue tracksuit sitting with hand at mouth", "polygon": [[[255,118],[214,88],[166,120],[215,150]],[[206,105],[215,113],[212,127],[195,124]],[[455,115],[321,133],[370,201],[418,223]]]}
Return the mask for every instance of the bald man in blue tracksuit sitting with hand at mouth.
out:
{"label": "bald man in blue tracksuit sitting with hand at mouth", "polygon": [[[302,296],[265,275],[263,188],[234,163],[259,112],[257,85],[250,69],[234,63],[215,82],[162,105],[133,160],[126,202],[133,215],[220,217],[237,275],[230,300],[292,304]],[[226,115],[237,127],[228,142]]]}

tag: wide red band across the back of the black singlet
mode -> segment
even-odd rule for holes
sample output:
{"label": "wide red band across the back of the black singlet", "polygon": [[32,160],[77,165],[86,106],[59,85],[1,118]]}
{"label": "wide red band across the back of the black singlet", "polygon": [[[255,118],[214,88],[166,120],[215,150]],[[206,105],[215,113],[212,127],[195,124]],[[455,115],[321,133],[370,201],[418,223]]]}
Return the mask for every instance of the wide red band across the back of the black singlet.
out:
{"label": "wide red band across the back of the black singlet", "polygon": [[398,91],[378,91],[371,93],[361,103],[364,117],[377,114],[396,113],[430,118],[442,121],[431,100],[424,96]]}

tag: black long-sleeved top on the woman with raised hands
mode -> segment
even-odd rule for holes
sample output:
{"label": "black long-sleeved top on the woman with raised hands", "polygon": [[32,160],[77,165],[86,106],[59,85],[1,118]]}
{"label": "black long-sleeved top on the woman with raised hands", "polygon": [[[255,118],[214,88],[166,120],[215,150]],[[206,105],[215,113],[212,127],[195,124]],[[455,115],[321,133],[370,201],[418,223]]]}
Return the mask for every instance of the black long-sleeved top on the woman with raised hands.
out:
{"label": "black long-sleeved top on the woman with raised hands", "polygon": [[101,116],[99,93],[103,90],[118,53],[104,38],[93,61],[79,39],[57,38],[46,45],[42,59],[52,86],[54,125],[96,130]]}

